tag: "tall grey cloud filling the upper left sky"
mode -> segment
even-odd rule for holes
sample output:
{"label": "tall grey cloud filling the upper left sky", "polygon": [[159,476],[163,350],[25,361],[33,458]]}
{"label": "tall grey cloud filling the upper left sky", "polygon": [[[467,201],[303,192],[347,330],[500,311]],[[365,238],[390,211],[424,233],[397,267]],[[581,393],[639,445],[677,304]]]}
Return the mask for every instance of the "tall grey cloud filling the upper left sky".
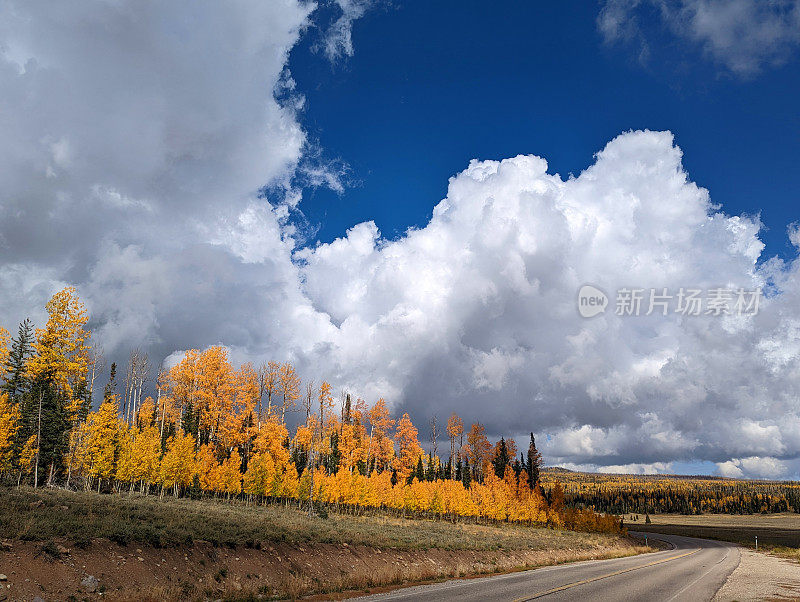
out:
{"label": "tall grey cloud filling the upper left sky", "polygon": [[2,2],[4,321],[69,282],[111,352],[267,346],[297,290],[282,201],[304,171],[336,184],[305,159],[286,70],[314,8]]}

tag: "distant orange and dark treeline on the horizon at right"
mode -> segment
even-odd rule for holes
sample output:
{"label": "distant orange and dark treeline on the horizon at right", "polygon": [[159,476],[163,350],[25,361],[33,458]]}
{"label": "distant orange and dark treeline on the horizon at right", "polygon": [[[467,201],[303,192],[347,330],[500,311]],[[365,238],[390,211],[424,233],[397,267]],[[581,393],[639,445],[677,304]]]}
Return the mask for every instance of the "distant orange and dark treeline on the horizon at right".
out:
{"label": "distant orange and dark treeline on the horizon at right", "polygon": [[614,514],[800,512],[800,483],[793,481],[545,471],[542,487],[556,484],[568,505]]}

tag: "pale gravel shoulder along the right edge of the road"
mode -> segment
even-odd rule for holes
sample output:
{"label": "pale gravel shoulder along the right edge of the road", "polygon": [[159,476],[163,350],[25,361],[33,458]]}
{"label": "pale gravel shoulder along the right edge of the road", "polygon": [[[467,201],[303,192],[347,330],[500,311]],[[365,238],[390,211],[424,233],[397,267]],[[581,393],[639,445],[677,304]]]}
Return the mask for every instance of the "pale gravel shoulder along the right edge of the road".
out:
{"label": "pale gravel shoulder along the right edge of the road", "polygon": [[797,600],[800,598],[800,564],[778,556],[741,549],[739,566],[714,596],[720,602]]}

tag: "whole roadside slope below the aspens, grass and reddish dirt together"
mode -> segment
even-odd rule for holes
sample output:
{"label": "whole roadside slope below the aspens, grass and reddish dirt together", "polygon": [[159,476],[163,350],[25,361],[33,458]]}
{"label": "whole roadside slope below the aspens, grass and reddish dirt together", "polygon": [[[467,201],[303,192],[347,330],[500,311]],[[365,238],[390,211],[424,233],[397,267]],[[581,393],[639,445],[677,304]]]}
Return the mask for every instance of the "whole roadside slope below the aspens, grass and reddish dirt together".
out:
{"label": "whole roadside slope below the aspens, grass and reddish dirt together", "polygon": [[[254,600],[363,593],[647,551],[618,535],[292,506],[0,489],[0,567],[16,596]],[[339,594],[336,594],[337,596]]]}

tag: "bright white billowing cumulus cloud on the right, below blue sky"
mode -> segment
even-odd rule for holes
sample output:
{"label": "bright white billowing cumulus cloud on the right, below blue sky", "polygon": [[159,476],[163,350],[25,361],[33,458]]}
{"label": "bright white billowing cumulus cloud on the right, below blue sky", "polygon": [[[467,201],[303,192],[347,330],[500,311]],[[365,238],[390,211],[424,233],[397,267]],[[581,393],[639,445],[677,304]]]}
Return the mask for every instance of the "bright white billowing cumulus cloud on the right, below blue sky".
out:
{"label": "bright white billowing cumulus cloud on the right, below blue sky", "polygon": [[[759,226],[688,179],[671,134],[631,132],[568,180],[538,157],[474,161],[425,228],[360,224],[296,257],[337,326],[315,359],[352,387],[535,430],[550,461],[774,475],[800,453],[800,289],[793,266],[758,266]],[[749,317],[617,316],[612,298],[583,319],[585,283],[770,298]]]}

